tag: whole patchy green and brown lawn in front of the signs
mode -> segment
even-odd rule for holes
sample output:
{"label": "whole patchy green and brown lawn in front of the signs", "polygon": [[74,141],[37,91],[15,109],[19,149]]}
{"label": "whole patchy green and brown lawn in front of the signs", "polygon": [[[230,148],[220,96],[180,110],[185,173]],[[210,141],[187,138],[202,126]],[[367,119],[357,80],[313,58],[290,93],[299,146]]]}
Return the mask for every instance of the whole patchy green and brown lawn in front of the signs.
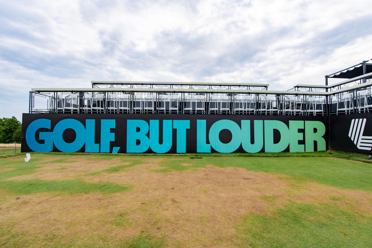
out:
{"label": "whole patchy green and brown lawn in front of the signs", "polygon": [[24,157],[0,158],[0,247],[372,247],[364,155]]}

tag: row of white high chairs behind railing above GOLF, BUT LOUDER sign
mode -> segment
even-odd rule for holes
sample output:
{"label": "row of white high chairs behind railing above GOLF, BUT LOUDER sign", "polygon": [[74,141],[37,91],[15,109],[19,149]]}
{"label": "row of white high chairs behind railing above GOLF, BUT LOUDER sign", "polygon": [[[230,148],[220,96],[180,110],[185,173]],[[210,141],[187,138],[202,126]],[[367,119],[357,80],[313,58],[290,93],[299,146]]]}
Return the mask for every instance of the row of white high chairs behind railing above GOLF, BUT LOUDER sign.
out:
{"label": "row of white high chairs behind railing above GOLF, BUT LOUDER sign", "polygon": [[108,94],[69,94],[59,95],[57,112],[78,112],[81,101],[83,113],[259,113],[303,115],[323,113],[324,100],[309,97],[307,102],[299,97],[284,97],[279,108],[275,96],[243,94],[211,94],[205,93],[118,93]]}

